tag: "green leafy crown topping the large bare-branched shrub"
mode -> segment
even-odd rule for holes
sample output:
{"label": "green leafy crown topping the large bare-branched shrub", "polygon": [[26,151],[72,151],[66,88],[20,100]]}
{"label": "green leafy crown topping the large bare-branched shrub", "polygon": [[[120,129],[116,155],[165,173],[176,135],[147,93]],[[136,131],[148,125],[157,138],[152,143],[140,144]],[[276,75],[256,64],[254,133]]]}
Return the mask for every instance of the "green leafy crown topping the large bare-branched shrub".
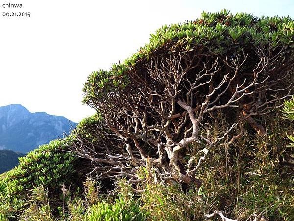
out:
{"label": "green leafy crown topping the large bare-branched shrub", "polygon": [[208,49],[214,55],[224,55],[230,51],[239,52],[244,48],[268,48],[272,51],[294,48],[294,21],[288,17],[252,14],[231,14],[228,10],[218,13],[203,12],[194,21],[164,25],[150,36],[150,42],[123,63],[113,64],[109,71],[94,71],[84,84],[84,103],[95,106],[97,101],[107,99],[122,91],[130,83],[129,71],[150,56],[160,53],[182,53]]}

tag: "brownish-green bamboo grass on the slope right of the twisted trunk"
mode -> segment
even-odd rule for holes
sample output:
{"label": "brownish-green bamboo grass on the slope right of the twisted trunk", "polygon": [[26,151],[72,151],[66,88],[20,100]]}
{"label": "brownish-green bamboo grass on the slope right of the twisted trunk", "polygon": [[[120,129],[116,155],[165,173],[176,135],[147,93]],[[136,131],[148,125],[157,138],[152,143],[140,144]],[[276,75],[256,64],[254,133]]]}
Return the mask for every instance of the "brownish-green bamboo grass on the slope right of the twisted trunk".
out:
{"label": "brownish-green bamboo grass on the slope right of the twisted trunk", "polygon": [[[294,219],[293,167],[283,164],[283,158],[293,154],[285,139],[292,125],[282,119],[280,111],[265,117],[263,123],[266,136],[257,137],[247,125],[234,145],[208,155],[197,175],[203,180],[205,213],[218,208],[239,220],[250,214],[263,214],[270,220]],[[195,144],[194,148],[192,156],[201,147]]]}

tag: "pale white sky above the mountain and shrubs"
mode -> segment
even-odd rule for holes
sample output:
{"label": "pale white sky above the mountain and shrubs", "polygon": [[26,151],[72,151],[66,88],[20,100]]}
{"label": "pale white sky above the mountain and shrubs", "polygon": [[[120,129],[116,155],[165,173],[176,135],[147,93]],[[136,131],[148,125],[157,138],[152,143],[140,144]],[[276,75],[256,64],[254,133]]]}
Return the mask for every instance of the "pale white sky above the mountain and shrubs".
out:
{"label": "pale white sky above the mountain and shrubs", "polygon": [[[75,122],[94,113],[82,105],[87,76],[123,61],[164,24],[193,20],[202,11],[290,15],[294,0],[0,0],[0,106]],[[4,3],[23,8],[3,8]],[[3,12],[31,17],[3,17]]]}

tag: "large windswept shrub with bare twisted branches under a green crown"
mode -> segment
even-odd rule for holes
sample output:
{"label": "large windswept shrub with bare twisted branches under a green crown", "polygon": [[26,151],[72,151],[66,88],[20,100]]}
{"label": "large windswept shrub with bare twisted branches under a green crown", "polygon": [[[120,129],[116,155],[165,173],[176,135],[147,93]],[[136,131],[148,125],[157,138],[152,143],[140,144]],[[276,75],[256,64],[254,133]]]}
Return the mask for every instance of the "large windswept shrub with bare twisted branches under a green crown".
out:
{"label": "large windswept shrub with bare twisted branches under a green crown", "polygon": [[[148,160],[160,178],[179,175],[189,183],[212,147],[242,135],[243,122],[265,134],[253,117],[292,95],[293,40],[290,17],[203,13],[163,26],[124,63],[93,72],[84,102],[123,142],[128,156],[120,169]],[[222,133],[211,134],[212,125]],[[204,155],[187,161],[185,150],[195,142]]]}

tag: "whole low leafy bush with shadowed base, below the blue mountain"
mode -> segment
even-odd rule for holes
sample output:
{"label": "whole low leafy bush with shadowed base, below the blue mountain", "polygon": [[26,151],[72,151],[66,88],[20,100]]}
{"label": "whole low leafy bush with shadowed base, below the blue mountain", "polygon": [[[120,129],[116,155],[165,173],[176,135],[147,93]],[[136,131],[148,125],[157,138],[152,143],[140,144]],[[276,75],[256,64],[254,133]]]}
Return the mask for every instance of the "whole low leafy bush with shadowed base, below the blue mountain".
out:
{"label": "whole low leafy bush with shadowed base, below the blue mountain", "polygon": [[[75,131],[87,123],[84,119]],[[52,212],[62,206],[62,188],[78,193],[89,163],[76,158],[67,146],[75,141],[75,133],[53,140],[19,158],[19,165],[0,177],[0,220],[16,220],[26,208],[33,189],[45,189]]]}

